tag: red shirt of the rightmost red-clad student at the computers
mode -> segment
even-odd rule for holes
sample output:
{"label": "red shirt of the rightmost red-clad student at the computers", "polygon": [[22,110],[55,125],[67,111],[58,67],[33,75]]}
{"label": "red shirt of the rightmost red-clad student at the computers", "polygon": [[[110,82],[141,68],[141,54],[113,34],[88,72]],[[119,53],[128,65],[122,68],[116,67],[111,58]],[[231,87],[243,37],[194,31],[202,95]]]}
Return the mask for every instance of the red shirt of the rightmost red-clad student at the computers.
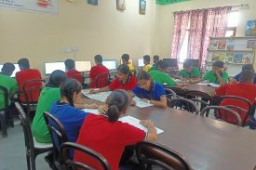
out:
{"label": "red shirt of the rightmost red-clad student at the computers", "polygon": [[96,82],[96,76],[101,74],[101,73],[108,73],[109,70],[103,66],[102,64],[98,64],[97,66],[93,66],[90,69],[89,72],[89,78],[91,79],[91,83],[89,85],[90,88],[101,88],[104,87],[106,85],[108,85],[108,75],[102,75],[101,76],[101,80],[97,86],[97,82]]}

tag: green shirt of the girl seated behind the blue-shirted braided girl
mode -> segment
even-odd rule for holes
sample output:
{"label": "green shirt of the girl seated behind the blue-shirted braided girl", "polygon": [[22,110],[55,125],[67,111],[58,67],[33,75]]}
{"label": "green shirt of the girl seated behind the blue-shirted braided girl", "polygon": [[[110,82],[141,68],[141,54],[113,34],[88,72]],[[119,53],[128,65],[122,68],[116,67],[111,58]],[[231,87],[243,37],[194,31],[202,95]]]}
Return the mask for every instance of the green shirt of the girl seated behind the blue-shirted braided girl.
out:
{"label": "green shirt of the girl seated behind the blue-shirted braided girl", "polygon": [[49,111],[52,103],[58,100],[61,100],[60,88],[46,87],[41,91],[32,124],[32,133],[36,141],[42,143],[51,142],[43,113]]}

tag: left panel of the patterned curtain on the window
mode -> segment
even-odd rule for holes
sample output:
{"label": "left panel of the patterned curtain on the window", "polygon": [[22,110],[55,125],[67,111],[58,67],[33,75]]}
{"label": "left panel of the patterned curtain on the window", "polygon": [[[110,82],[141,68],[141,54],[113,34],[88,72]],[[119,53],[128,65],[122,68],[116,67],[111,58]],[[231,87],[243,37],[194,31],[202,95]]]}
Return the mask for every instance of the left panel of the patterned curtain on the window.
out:
{"label": "left panel of the patterned curtain on the window", "polygon": [[171,48],[172,59],[177,59],[180,54],[185,33],[188,28],[189,18],[190,11],[174,13],[174,34]]}

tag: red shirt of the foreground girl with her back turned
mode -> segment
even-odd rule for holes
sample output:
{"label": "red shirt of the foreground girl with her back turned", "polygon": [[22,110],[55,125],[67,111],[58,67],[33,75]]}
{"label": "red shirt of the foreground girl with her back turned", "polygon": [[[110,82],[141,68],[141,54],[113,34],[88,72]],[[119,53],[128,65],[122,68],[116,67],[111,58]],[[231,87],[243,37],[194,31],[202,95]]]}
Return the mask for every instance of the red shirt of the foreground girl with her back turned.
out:
{"label": "red shirt of the foreground girl with her back turned", "polygon": [[[145,136],[144,131],[130,124],[119,121],[111,123],[106,116],[89,114],[80,129],[76,143],[101,153],[112,170],[119,170],[118,164],[125,147],[135,145]],[[99,163],[79,151],[74,151],[74,160],[101,170]]]}

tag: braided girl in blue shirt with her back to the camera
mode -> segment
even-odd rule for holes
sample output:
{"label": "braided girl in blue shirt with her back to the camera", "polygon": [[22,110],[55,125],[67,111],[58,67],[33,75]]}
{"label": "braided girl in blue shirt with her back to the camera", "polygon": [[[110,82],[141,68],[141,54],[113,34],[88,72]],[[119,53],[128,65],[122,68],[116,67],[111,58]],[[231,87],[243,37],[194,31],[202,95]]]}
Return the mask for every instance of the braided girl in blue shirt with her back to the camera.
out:
{"label": "braided girl in blue shirt with her back to the camera", "polygon": [[[74,79],[67,79],[61,85],[61,101],[56,101],[52,104],[50,113],[60,120],[63,124],[67,134],[68,141],[75,142],[78,137],[80,128],[84,122],[88,112],[81,111],[84,109],[85,104],[77,105],[74,107],[74,103],[80,103],[82,86]],[[96,104],[90,105],[89,109],[96,109]],[[70,154],[71,157],[72,154]]]}

